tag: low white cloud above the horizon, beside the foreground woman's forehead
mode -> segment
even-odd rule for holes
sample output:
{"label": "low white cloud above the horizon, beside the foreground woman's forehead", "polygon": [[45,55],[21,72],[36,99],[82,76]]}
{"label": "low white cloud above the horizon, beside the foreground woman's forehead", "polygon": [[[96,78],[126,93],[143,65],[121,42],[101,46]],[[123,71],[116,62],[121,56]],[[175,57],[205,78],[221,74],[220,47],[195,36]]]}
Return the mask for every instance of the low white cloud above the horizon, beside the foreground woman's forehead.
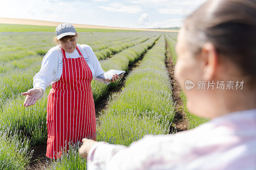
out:
{"label": "low white cloud above the horizon, beside the foreground woman's forehead", "polygon": [[155,22],[150,24],[148,28],[169,28],[174,26],[182,26],[183,19],[169,19],[162,22]]}

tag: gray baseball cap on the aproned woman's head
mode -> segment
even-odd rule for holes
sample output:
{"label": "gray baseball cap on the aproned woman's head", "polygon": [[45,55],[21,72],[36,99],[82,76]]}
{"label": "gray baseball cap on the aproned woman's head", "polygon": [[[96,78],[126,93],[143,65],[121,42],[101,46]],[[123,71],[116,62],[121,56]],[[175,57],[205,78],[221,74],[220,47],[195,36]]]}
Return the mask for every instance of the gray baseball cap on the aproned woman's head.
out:
{"label": "gray baseball cap on the aproned woman's head", "polygon": [[63,23],[56,27],[56,36],[57,39],[60,40],[62,37],[66,35],[75,35],[76,28],[69,23]]}

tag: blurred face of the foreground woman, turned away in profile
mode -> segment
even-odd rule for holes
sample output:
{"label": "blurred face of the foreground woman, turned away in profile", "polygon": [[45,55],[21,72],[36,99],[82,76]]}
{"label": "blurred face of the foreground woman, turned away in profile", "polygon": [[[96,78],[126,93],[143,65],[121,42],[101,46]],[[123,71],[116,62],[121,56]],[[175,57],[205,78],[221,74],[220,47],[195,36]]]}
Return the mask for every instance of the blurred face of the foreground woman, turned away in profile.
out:
{"label": "blurred face of the foreground woman, turned away in profile", "polygon": [[197,82],[204,79],[202,70],[205,63],[200,56],[194,56],[189,50],[185,32],[186,30],[182,28],[177,38],[176,52],[178,58],[174,73],[187,96],[188,110],[196,115],[205,116],[204,107],[209,104],[205,100],[208,99],[207,90],[197,90]]}

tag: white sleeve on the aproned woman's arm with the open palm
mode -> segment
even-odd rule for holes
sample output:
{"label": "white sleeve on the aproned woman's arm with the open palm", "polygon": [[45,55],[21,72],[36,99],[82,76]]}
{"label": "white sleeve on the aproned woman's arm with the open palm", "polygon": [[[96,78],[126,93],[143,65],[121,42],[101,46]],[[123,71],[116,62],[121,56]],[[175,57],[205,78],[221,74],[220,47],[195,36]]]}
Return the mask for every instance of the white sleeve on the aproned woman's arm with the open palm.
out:
{"label": "white sleeve on the aproned woman's arm with the open palm", "polygon": [[[53,57],[52,57],[53,56]],[[54,74],[57,71],[57,58],[59,56],[59,52],[57,50],[49,50],[42,61],[41,69],[33,78],[33,87],[40,87],[44,91],[46,87],[48,87],[53,79]],[[52,58],[56,59],[56,61],[52,61]],[[43,95],[40,97],[42,99]]]}

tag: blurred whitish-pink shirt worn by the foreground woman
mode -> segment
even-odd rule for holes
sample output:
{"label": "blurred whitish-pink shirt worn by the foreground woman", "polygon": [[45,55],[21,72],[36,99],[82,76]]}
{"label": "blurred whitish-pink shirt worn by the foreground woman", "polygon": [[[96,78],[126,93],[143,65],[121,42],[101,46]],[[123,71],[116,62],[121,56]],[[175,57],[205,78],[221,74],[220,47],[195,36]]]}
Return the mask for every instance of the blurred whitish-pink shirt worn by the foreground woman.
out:
{"label": "blurred whitish-pink shirt worn by the foreground woman", "polygon": [[89,170],[255,170],[256,109],[173,135],[146,135],[129,147],[99,142],[87,163]]}

